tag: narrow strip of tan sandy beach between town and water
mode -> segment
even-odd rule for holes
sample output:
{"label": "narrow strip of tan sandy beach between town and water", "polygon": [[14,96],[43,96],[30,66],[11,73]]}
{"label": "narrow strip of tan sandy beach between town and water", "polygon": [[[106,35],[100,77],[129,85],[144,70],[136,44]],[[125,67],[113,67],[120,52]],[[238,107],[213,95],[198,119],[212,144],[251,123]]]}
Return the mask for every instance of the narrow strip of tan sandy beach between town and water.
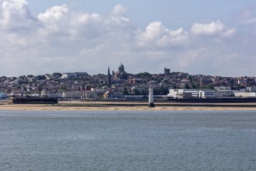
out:
{"label": "narrow strip of tan sandy beach between town and water", "polygon": [[255,103],[239,104],[175,104],[155,103],[156,107],[148,107],[147,103],[126,102],[80,102],[65,101],[57,105],[51,104],[1,104],[0,110],[256,110]]}

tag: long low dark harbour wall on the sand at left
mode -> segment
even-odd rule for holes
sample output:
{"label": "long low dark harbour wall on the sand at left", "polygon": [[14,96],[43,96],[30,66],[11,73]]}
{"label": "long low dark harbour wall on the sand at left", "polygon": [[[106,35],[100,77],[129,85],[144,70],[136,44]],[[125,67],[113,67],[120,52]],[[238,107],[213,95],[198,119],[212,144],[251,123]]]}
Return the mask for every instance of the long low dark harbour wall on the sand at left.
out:
{"label": "long low dark harbour wall on the sand at left", "polygon": [[16,97],[12,99],[12,103],[15,104],[56,104],[58,103],[57,98],[23,98],[23,97]]}

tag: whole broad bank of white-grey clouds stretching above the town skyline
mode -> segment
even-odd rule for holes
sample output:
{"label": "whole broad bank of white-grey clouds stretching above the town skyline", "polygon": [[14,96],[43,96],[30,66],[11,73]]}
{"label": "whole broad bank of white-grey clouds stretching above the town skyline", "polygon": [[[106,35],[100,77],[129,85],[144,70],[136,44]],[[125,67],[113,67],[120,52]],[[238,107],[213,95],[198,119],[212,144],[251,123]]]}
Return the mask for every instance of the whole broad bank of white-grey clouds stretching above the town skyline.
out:
{"label": "whole broad bank of white-grey clouds stretching above the town skyline", "polygon": [[[106,72],[108,65],[114,69],[120,62],[132,73],[156,73],[164,67],[213,73],[226,68],[228,61],[221,60],[236,54],[234,47],[239,46],[238,40],[230,41],[236,40],[236,30],[220,20],[195,23],[190,30],[168,28],[160,21],[139,28],[123,5],[114,6],[108,15],[56,5],[38,16],[31,15],[26,0],[0,0],[0,6],[0,60],[7,66],[0,68],[1,75],[96,74]],[[227,40],[226,46],[211,41],[212,37]],[[247,44],[251,40],[255,39]],[[247,65],[255,65],[245,54],[232,59],[241,56]]]}

